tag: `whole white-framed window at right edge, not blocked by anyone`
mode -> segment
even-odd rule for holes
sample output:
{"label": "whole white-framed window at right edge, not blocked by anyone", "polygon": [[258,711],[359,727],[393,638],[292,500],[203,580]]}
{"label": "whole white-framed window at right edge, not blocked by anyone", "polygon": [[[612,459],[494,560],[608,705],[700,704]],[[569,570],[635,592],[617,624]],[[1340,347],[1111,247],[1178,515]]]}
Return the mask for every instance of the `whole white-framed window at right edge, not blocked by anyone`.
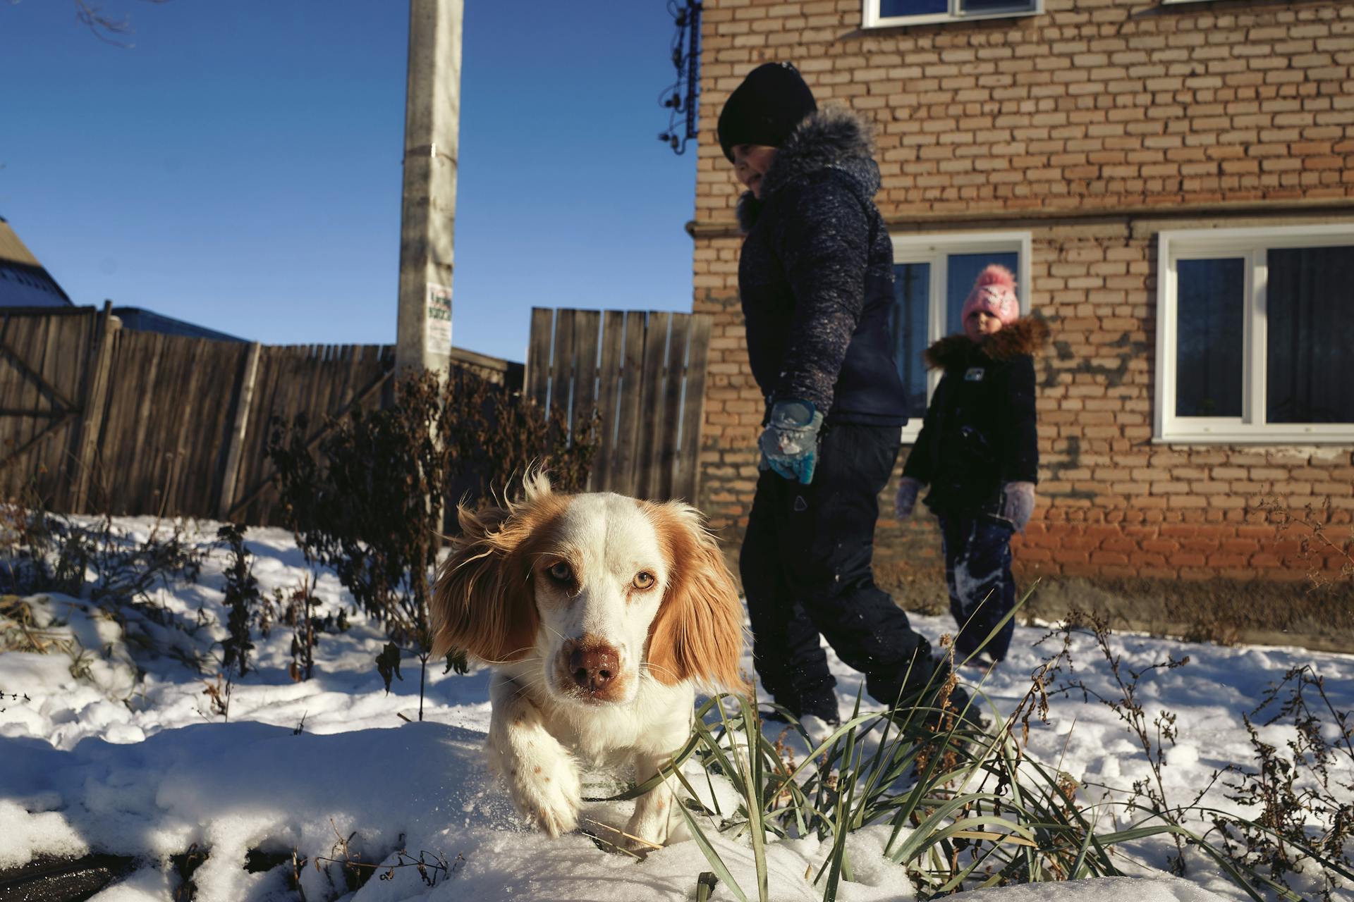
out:
{"label": "whole white-framed window at right edge, not blocked by anyone", "polygon": [[1163,231],[1158,441],[1354,441],[1354,223]]}

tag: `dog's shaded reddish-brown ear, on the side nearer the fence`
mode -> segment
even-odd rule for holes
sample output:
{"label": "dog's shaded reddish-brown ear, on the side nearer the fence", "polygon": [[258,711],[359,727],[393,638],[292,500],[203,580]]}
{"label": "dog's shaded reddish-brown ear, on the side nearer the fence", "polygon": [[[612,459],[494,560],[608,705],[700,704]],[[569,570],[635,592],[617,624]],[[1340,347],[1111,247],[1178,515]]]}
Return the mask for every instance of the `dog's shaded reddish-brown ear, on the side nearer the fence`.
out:
{"label": "dog's shaded reddish-brown ear, on the side nearer the fence", "polygon": [[432,655],[452,648],[490,664],[531,653],[540,615],[531,590],[531,541],[562,496],[538,484],[521,503],[481,511],[456,508],[462,534],[433,588]]}

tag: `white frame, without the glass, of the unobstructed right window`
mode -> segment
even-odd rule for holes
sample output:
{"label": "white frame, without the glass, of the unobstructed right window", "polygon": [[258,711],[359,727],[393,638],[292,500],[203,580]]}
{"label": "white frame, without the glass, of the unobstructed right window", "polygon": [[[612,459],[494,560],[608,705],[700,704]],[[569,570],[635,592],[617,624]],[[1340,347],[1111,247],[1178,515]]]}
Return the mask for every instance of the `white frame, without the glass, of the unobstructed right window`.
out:
{"label": "white frame, without the glass, of the unobstructed right window", "polygon": [[[1182,229],[1158,233],[1156,398],[1152,441],[1158,444],[1311,445],[1354,442],[1354,423],[1266,423],[1267,345],[1266,252],[1275,247],[1339,247],[1354,252],[1354,223],[1263,229]],[[1242,415],[1177,417],[1177,262],[1240,257],[1246,266],[1242,349]]]}

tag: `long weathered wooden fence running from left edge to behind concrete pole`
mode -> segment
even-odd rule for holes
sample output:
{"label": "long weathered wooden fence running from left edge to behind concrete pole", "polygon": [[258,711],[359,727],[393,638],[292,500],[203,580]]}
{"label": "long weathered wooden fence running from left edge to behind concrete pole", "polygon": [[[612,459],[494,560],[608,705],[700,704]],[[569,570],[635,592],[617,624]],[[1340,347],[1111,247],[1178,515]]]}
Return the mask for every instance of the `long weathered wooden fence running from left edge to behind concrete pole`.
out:
{"label": "long weathered wooden fence running from left edge to behind concrete pole", "polygon": [[[454,349],[520,384],[520,366]],[[389,345],[267,346],[123,330],[106,306],[0,319],[0,498],[30,485],[56,511],[275,518],[269,422],[382,403]]]}

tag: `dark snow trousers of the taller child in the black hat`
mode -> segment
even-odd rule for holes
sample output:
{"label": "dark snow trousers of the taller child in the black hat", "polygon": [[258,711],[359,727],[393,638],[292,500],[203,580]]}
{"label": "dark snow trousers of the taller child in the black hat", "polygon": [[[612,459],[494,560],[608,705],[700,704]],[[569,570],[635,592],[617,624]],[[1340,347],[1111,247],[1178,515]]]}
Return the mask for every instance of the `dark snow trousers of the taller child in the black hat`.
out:
{"label": "dark snow trousers of the taller child in the black hat", "polygon": [[770,471],[757,480],[739,556],[753,663],[776,703],[796,715],[837,719],[819,634],[865,673],[865,690],[883,705],[921,690],[932,675],[930,644],[871,572],[879,492],[898,448],[896,426],[833,423],[811,484]]}

